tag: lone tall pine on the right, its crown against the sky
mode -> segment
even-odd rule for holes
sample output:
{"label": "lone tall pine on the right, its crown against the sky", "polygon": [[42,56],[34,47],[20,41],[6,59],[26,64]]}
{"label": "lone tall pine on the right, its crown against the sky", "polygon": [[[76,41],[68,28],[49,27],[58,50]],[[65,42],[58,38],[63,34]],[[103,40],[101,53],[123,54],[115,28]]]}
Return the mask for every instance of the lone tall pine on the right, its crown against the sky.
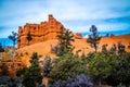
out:
{"label": "lone tall pine on the right, its crown against the sky", "polygon": [[87,42],[89,42],[91,45],[91,47],[94,48],[94,50],[96,52],[98,51],[98,44],[99,44],[101,37],[99,36],[98,28],[96,28],[95,25],[92,25],[90,27],[90,32],[92,34],[89,35],[89,38],[87,39]]}

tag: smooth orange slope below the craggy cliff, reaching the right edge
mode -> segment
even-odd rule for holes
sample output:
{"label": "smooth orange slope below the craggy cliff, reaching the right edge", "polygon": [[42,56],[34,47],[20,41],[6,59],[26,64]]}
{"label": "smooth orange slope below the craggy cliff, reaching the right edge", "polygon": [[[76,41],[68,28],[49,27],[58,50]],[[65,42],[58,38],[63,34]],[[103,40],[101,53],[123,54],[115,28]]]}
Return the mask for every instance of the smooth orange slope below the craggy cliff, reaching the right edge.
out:
{"label": "smooth orange slope below the craggy cliff, reaching the right edge", "polygon": [[[113,36],[113,37],[103,37],[99,45],[99,51],[102,49],[102,45],[107,44],[107,49],[114,45],[121,42],[126,46],[126,51],[130,52],[130,49],[128,48],[130,44],[130,35],[121,35],[121,36]],[[38,52],[39,55],[41,55],[40,60],[43,60],[46,55],[50,55],[52,59],[55,58],[55,53],[51,51],[51,48],[57,45],[57,39],[47,40],[43,42],[34,44],[30,46],[26,46],[24,48],[17,49],[18,54],[23,53],[23,61],[28,63],[29,57],[32,54],[32,52]],[[73,42],[73,46],[75,47],[74,52],[76,53],[77,50],[81,50],[79,54],[82,54],[84,52],[86,54],[88,52],[94,51],[93,48],[90,47],[89,44],[87,44],[87,38],[82,39],[75,39],[75,42]],[[26,55],[28,53],[28,55]]]}

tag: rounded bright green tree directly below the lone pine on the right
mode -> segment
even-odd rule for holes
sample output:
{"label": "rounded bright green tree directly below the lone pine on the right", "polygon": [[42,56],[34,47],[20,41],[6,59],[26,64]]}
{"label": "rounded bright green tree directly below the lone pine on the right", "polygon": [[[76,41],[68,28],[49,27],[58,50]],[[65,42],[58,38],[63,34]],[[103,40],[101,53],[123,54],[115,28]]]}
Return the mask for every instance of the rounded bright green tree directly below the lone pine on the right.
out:
{"label": "rounded bright green tree directly below the lone pine on the right", "polygon": [[104,78],[106,78],[112,71],[109,58],[102,52],[94,54],[94,58],[89,62],[88,74],[100,86]]}

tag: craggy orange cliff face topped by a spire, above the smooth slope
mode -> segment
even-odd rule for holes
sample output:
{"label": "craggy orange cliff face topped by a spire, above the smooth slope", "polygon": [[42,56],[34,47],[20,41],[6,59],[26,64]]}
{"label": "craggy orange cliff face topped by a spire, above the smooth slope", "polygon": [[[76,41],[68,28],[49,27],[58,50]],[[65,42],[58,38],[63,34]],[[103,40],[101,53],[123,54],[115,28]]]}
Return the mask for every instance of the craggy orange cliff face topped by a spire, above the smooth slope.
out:
{"label": "craggy orange cliff face topped by a spire, above the smooth slope", "polygon": [[[56,21],[51,14],[49,15],[48,22],[41,22],[40,24],[26,23],[24,27],[18,27],[18,40],[17,48],[28,46],[27,34],[30,32],[31,40],[29,45],[46,41],[49,39],[57,39],[60,28],[63,25]],[[65,29],[65,27],[63,26]]]}

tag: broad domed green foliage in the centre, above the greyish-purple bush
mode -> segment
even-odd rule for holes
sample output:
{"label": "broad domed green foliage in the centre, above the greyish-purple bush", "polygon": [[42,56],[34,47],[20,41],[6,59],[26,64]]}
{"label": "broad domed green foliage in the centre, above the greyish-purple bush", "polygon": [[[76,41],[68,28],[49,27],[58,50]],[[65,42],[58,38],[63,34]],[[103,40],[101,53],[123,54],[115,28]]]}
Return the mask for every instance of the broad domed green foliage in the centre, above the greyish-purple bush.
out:
{"label": "broad domed green foliage in the centre, above the greyish-purple bush", "polygon": [[49,83],[53,84],[61,80],[66,80],[68,77],[76,77],[79,74],[87,72],[87,67],[80,58],[77,58],[73,53],[67,53],[58,62],[55,63],[50,72]]}

